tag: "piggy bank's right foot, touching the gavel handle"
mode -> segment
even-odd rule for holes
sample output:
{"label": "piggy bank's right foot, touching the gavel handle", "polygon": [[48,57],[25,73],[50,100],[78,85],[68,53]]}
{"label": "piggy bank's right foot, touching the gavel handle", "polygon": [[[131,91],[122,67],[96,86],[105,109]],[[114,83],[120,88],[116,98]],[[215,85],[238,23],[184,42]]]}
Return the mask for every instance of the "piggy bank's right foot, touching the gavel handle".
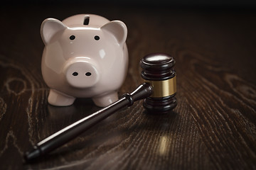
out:
{"label": "piggy bank's right foot, touching the gavel handle", "polygon": [[92,101],[95,103],[95,105],[100,107],[106,107],[117,100],[118,100],[117,91],[112,91],[111,93],[92,98]]}

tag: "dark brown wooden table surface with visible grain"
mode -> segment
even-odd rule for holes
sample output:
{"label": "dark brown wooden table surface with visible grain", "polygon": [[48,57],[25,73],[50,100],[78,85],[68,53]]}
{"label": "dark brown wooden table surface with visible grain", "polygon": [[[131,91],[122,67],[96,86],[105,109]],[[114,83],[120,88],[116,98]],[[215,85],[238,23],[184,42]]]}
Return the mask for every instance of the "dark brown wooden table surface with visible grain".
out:
{"label": "dark brown wooden table surface with visible grain", "polygon": [[[31,164],[23,153],[100,110],[90,99],[47,103],[41,22],[77,13],[121,20],[129,70],[119,96],[141,82],[151,52],[176,59],[178,106],[123,108]],[[256,169],[256,12],[228,8],[5,6],[0,10],[0,169]]]}

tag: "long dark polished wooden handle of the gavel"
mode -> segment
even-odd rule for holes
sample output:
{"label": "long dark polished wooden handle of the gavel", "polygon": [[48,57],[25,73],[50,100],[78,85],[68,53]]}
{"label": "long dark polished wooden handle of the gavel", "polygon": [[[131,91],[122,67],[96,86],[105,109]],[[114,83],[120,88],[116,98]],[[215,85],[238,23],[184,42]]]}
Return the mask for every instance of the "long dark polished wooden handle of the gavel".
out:
{"label": "long dark polished wooden handle of the gavel", "polygon": [[112,115],[112,113],[118,111],[120,108],[123,108],[124,106],[132,106],[134,101],[149,97],[152,94],[152,91],[152,87],[149,84],[141,84],[131,94],[124,94],[122,98],[112,103],[110,106],[102,108],[102,110],[97,111],[92,115],[88,115],[87,117],[78,120],[68,127],[55,132],[53,135],[50,135],[41,142],[38,142],[38,144],[33,147],[31,152],[26,152],[24,159],[26,162],[30,162],[33,159],[41,157],[44,154],[57,149],[70,140],[73,140],[75,137],[78,137],[78,135],[80,135],[82,132],[85,132],[85,130],[88,130],[101,120],[104,120],[108,116]]}

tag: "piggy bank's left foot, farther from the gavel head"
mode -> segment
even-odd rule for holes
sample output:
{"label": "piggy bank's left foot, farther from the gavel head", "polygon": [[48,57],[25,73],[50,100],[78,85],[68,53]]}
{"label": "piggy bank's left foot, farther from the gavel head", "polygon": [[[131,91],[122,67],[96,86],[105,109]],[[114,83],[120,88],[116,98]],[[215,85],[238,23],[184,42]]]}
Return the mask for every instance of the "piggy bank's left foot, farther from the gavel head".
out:
{"label": "piggy bank's left foot, farther from the gavel head", "polygon": [[60,91],[50,89],[50,93],[48,96],[48,103],[50,103],[51,105],[70,106],[74,103],[74,101],[75,101],[74,97],[60,93]]}

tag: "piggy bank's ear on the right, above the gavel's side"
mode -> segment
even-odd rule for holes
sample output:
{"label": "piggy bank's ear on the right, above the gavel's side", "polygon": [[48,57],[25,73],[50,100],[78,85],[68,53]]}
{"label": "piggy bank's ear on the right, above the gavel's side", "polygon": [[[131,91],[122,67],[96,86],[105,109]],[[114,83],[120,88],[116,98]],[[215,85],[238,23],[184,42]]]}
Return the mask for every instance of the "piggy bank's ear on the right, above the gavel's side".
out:
{"label": "piggy bank's ear on the right, above the gavel's side", "polygon": [[112,33],[117,38],[119,45],[124,44],[127,39],[127,26],[122,21],[111,21],[102,26],[101,29]]}

